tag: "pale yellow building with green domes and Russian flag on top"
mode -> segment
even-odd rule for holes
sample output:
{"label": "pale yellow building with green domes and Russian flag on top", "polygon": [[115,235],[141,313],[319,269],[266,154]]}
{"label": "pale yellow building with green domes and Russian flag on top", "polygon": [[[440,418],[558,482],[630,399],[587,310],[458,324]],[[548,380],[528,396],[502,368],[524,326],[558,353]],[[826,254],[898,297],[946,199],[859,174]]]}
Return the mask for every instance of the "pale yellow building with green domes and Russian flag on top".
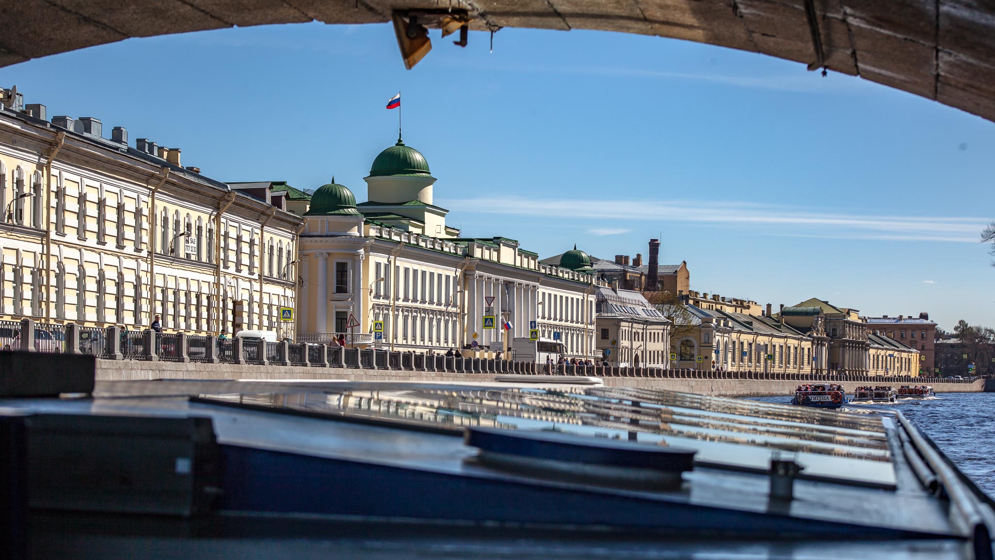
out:
{"label": "pale yellow building with green domes and Russian flag on top", "polygon": [[425,157],[402,140],[364,180],[369,200],[332,182],[303,213],[298,340],[507,357],[534,323],[567,356],[595,356],[589,267],[541,264],[506,237],[461,237],[434,202]]}

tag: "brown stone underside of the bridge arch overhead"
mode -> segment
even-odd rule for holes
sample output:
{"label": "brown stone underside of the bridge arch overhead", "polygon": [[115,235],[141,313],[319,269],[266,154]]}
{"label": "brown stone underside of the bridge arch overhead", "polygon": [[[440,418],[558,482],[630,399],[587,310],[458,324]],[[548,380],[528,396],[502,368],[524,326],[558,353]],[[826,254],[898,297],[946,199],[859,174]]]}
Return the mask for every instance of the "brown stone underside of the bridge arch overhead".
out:
{"label": "brown stone underside of the bridge arch overhead", "polygon": [[597,29],[763,53],[995,121],[987,0],[7,0],[0,66],[130,37],[277,23],[360,24],[466,10],[470,29]]}

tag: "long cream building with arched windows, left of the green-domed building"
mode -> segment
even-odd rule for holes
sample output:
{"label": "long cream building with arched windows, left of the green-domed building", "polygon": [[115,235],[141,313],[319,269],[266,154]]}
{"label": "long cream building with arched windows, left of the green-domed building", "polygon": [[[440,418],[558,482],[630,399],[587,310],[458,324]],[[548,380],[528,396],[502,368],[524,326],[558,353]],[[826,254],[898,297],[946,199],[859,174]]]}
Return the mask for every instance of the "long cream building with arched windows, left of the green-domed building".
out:
{"label": "long cream building with arched windows, left of the green-domed building", "polygon": [[[98,119],[0,109],[0,319],[294,335],[301,219]],[[255,184],[255,183],[254,183]]]}

